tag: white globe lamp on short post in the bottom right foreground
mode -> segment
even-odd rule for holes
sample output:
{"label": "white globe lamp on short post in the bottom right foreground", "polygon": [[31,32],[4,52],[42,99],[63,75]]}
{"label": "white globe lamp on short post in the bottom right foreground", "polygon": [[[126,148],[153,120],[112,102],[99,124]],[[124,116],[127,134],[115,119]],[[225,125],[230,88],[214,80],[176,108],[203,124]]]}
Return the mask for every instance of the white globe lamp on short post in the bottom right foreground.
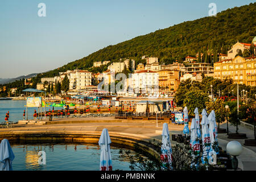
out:
{"label": "white globe lamp on short post in the bottom right foreground", "polygon": [[230,154],[233,155],[233,159],[232,159],[232,168],[237,170],[238,168],[238,160],[237,160],[237,156],[240,155],[242,153],[242,145],[240,142],[237,142],[236,140],[233,140],[231,142],[229,142],[226,145],[226,151]]}

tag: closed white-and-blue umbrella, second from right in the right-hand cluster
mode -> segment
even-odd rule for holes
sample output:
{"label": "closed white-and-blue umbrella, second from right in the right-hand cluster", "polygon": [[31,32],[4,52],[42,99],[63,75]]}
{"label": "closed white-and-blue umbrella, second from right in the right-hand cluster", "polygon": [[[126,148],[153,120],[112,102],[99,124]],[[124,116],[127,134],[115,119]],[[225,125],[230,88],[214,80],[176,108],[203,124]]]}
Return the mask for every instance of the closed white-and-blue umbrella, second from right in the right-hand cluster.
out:
{"label": "closed white-and-blue umbrella, second from right in the right-hand cluster", "polygon": [[210,135],[209,135],[209,121],[207,118],[207,111],[203,109],[202,111],[202,144],[203,144],[203,156],[202,163],[204,163],[204,159],[208,158],[209,150],[210,150]]}

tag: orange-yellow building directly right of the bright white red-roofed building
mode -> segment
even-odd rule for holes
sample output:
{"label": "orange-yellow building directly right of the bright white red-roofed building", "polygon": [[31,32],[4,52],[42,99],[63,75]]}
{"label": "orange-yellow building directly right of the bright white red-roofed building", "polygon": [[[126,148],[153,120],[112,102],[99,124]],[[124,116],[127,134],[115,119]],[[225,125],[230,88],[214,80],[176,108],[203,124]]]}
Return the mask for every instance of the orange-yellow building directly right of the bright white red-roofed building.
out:
{"label": "orange-yellow building directly right of the bright white red-roofed building", "polygon": [[162,69],[159,74],[159,91],[161,93],[176,92],[180,81],[177,69]]}

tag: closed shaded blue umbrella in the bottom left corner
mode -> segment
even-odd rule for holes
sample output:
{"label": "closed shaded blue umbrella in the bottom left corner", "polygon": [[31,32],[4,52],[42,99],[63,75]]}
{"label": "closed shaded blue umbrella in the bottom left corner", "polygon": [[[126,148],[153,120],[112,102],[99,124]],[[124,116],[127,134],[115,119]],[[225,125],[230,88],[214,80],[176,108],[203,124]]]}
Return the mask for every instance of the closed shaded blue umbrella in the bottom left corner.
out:
{"label": "closed shaded blue umbrella in the bottom left corner", "polygon": [[0,171],[13,171],[11,167],[13,159],[14,154],[10,143],[7,139],[3,139],[0,143]]}

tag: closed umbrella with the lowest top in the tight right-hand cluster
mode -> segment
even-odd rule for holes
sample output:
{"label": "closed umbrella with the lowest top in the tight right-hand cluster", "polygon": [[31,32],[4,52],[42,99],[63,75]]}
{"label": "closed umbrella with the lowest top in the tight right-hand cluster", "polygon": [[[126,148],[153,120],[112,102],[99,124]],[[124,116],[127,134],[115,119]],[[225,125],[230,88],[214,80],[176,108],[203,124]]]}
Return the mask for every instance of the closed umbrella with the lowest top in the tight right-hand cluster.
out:
{"label": "closed umbrella with the lowest top in the tight right-hand cluster", "polygon": [[[193,118],[191,122],[191,138],[190,138],[190,147],[193,150],[193,158],[200,154],[200,143],[199,138],[197,136],[197,127],[196,127],[196,119]],[[191,166],[198,166],[198,164],[192,163]]]}

